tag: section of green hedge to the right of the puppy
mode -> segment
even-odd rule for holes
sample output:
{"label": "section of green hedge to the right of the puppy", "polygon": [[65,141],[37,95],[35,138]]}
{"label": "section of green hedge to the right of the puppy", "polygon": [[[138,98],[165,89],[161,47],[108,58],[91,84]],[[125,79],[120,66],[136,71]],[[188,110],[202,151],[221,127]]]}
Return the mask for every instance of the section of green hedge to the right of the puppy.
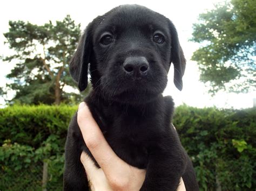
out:
{"label": "section of green hedge to the right of the puppy", "polygon": [[180,106],[174,126],[196,169],[200,190],[256,188],[256,108],[198,109]]}

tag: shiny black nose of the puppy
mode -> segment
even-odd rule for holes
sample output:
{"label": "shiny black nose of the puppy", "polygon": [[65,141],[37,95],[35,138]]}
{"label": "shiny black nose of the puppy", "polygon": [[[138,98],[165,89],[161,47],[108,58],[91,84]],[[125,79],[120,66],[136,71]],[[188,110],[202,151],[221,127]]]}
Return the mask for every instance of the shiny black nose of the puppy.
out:
{"label": "shiny black nose of the puppy", "polygon": [[145,76],[149,70],[149,62],[143,56],[128,57],[123,63],[124,70],[129,75]]}

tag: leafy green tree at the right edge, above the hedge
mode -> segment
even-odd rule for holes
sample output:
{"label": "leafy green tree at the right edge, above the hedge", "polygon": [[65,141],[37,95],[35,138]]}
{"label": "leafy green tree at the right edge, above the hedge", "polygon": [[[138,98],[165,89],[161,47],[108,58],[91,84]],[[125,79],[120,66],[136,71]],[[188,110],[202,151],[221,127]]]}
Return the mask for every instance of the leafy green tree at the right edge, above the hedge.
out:
{"label": "leafy green tree at the right edge, above the hedge", "polygon": [[256,89],[256,1],[231,0],[199,15],[192,41],[200,43],[192,60],[211,93]]}

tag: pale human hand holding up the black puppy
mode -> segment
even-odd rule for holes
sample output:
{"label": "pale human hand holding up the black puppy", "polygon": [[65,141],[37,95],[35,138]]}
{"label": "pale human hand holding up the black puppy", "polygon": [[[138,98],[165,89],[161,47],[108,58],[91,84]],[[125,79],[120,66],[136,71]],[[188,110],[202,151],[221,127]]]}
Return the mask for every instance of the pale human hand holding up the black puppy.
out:
{"label": "pale human hand holding up the black puppy", "polygon": [[[80,159],[91,189],[139,190],[145,180],[146,170],[127,164],[113,152],[85,102],[79,104],[77,122],[86,146],[100,166],[97,168],[85,152],[81,154]],[[182,179],[178,190],[185,190]]]}

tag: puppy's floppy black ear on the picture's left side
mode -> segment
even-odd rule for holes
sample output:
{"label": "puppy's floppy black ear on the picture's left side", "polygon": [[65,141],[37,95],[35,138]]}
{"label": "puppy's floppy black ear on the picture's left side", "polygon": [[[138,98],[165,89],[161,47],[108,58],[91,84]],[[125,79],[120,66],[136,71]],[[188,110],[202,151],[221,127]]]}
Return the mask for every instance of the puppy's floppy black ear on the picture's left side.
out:
{"label": "puppy's floppy black ear on the picture's left side", "polygon": [[80,91],[85,90],[88,84],[88,65],[90,62],[90,54],[92,49],[90,25],[91,24],[86,27],[84,34],[80,38],[77,50],[69,65],[69,72],[73,79],[78,82],[78,88]]}

